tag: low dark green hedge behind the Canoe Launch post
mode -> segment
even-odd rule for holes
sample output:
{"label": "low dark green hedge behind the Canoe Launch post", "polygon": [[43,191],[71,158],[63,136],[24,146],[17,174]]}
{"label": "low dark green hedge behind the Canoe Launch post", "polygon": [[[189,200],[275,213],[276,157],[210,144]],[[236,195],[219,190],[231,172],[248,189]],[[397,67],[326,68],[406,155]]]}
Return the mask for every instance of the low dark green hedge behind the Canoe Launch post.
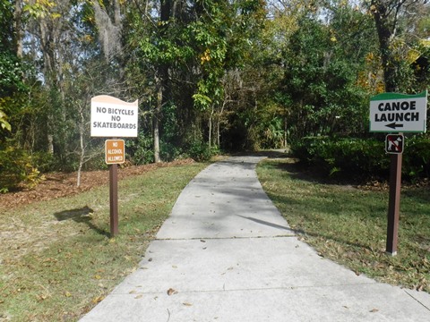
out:
{"label": "low dark green hedge behind the Canoe Launch post", "polygon": [[[357,138],[306,137],[291,145],[300,161],[323,175],[357,179],[388,178],[390,156],[384,140]],[[405,139],[402,175],[406,180],[430,176],[430,139],[414,136]]]}

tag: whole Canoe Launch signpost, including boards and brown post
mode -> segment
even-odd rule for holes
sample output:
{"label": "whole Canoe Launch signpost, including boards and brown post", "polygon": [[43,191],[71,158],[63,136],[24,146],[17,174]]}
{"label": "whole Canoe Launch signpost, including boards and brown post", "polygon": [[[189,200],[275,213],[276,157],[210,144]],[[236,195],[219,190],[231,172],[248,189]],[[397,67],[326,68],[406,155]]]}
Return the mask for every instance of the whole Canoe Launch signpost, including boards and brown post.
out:
{"label": "whole Canoe Launch signpost, including boards and brown post", "polygon": [[[396,93],[376,95],[370,100],[370,131],[425,132],[426,112],[426,90],[417,95]],[[385,151],[391,154],[386,251],[391,256],[397,255],[403,147],[403,134],[386,136]]]}

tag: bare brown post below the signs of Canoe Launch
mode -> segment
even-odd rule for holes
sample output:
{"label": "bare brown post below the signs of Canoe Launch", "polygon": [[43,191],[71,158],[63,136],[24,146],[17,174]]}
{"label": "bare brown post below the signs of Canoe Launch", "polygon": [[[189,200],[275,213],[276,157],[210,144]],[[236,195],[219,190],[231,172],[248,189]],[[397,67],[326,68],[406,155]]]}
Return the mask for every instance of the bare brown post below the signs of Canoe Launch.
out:
{"label": "bare brown post below the signs of Canoe Launch", "polygon": [[397,255],[397,241],[399,234],[401,161],[401,153],[391,155],[386,251],[392,256]]}

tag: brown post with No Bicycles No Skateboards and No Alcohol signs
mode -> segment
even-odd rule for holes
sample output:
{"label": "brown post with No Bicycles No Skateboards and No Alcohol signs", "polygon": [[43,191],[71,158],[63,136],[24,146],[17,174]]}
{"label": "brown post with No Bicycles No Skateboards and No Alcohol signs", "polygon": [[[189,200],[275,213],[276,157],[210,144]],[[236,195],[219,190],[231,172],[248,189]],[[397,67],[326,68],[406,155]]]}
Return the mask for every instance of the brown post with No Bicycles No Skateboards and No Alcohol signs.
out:
{"label": "brown post with No Bicycles No Skateboards and No Alcohol signs", "polygon": [[[116,97],[91,98],[91,137],[137,137],[138,101],[127,103]],[[105,141],[109,166],[110,236],[118,232],[118,164],[125,162],[125,141]]]}

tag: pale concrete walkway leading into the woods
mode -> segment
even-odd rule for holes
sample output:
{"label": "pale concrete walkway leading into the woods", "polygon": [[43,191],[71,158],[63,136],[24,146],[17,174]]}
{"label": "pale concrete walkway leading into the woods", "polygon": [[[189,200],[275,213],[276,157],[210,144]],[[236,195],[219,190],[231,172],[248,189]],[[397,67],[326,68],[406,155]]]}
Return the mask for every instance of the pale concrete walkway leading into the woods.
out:
{"label": "pale concrete walkway leading into the woods", "polygon": [[297,240],[230,157],[198,174],[140,267],[82,322],[430,321],[430,294],[376,283]]}

